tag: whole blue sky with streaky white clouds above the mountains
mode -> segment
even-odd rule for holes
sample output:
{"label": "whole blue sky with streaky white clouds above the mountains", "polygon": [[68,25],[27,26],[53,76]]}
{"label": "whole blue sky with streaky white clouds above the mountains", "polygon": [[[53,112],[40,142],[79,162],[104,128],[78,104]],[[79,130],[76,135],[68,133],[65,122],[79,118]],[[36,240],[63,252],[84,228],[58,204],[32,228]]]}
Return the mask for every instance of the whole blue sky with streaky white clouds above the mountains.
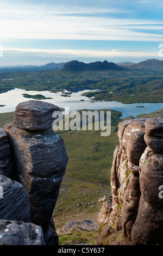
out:
{"label": "whole blue sky with streaky white clouds above the mountains", "polygon": [[162,0],[0,0],[0,66],[163,60],[162,17]]}

